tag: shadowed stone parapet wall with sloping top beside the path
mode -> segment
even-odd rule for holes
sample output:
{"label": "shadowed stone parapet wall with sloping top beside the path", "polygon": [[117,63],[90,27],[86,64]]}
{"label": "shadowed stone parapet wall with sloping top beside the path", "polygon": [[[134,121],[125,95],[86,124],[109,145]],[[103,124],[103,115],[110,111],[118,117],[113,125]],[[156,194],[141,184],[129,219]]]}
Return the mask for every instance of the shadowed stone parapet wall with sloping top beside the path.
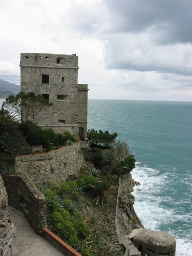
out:
{"label": "shadowed stone parapet wall with sloping top beside the path", "polygon": [[4,177],[9,204],[24,211],[30,226],[37,234],[46,227],[46,200],[34,183],[21,175]]}

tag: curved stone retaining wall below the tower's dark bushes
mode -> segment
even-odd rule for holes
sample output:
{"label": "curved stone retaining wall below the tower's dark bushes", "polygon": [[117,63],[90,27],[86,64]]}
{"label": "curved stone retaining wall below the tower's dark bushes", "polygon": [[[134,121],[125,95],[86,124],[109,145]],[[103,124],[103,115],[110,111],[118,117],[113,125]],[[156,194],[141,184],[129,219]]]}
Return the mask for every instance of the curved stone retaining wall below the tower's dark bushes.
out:
{"label": "curved stone retaining wall below the tower's dark bushes", "polygon": [[35,183],[46,184],[49,180],[65,181],[77,177],[84,166],[80,143],[63,146],[46,153],[15,157],[16,172],[24,172]]}

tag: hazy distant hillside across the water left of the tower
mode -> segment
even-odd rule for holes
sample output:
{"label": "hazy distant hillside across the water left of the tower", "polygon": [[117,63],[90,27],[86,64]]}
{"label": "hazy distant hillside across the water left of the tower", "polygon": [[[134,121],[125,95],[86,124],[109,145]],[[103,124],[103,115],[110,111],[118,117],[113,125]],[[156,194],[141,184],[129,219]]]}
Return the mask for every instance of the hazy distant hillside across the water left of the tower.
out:
{"label": "hazy distant hillside across the water left of the tower", "polygon": [[0,79],[0,99],[5,99],[9,95],[16,95],[20,92],[20,86]]}

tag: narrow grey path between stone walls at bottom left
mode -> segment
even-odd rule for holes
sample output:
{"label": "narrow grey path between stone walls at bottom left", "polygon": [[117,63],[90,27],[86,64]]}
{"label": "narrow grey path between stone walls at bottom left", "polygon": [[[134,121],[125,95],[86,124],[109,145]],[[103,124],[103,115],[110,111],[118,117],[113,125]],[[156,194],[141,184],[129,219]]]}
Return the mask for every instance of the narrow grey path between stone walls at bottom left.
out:
{"label": "narrow grey path between stone walls at bottom left", "polygon": [[8,206],[8,212],[16,226],[16,236],[12,241],[13,256],[63,256],[44,238],[35,234],[22,211]]}

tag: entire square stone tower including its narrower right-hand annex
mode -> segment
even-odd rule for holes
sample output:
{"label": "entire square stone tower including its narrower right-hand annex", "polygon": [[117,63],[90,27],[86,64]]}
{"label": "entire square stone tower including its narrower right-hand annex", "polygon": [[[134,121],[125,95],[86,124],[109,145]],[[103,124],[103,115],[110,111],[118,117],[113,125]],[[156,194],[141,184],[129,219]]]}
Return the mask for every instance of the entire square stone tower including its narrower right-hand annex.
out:
{"label": "entire square stone tower including its narrower right-hand annex", "polygon": [[20,54],[20,90],[53,103],[39,112],[37,124],[57,133],[69,131],[83,141],[87,138],[88,85],[78,84],[78,69],[76,54]]}

